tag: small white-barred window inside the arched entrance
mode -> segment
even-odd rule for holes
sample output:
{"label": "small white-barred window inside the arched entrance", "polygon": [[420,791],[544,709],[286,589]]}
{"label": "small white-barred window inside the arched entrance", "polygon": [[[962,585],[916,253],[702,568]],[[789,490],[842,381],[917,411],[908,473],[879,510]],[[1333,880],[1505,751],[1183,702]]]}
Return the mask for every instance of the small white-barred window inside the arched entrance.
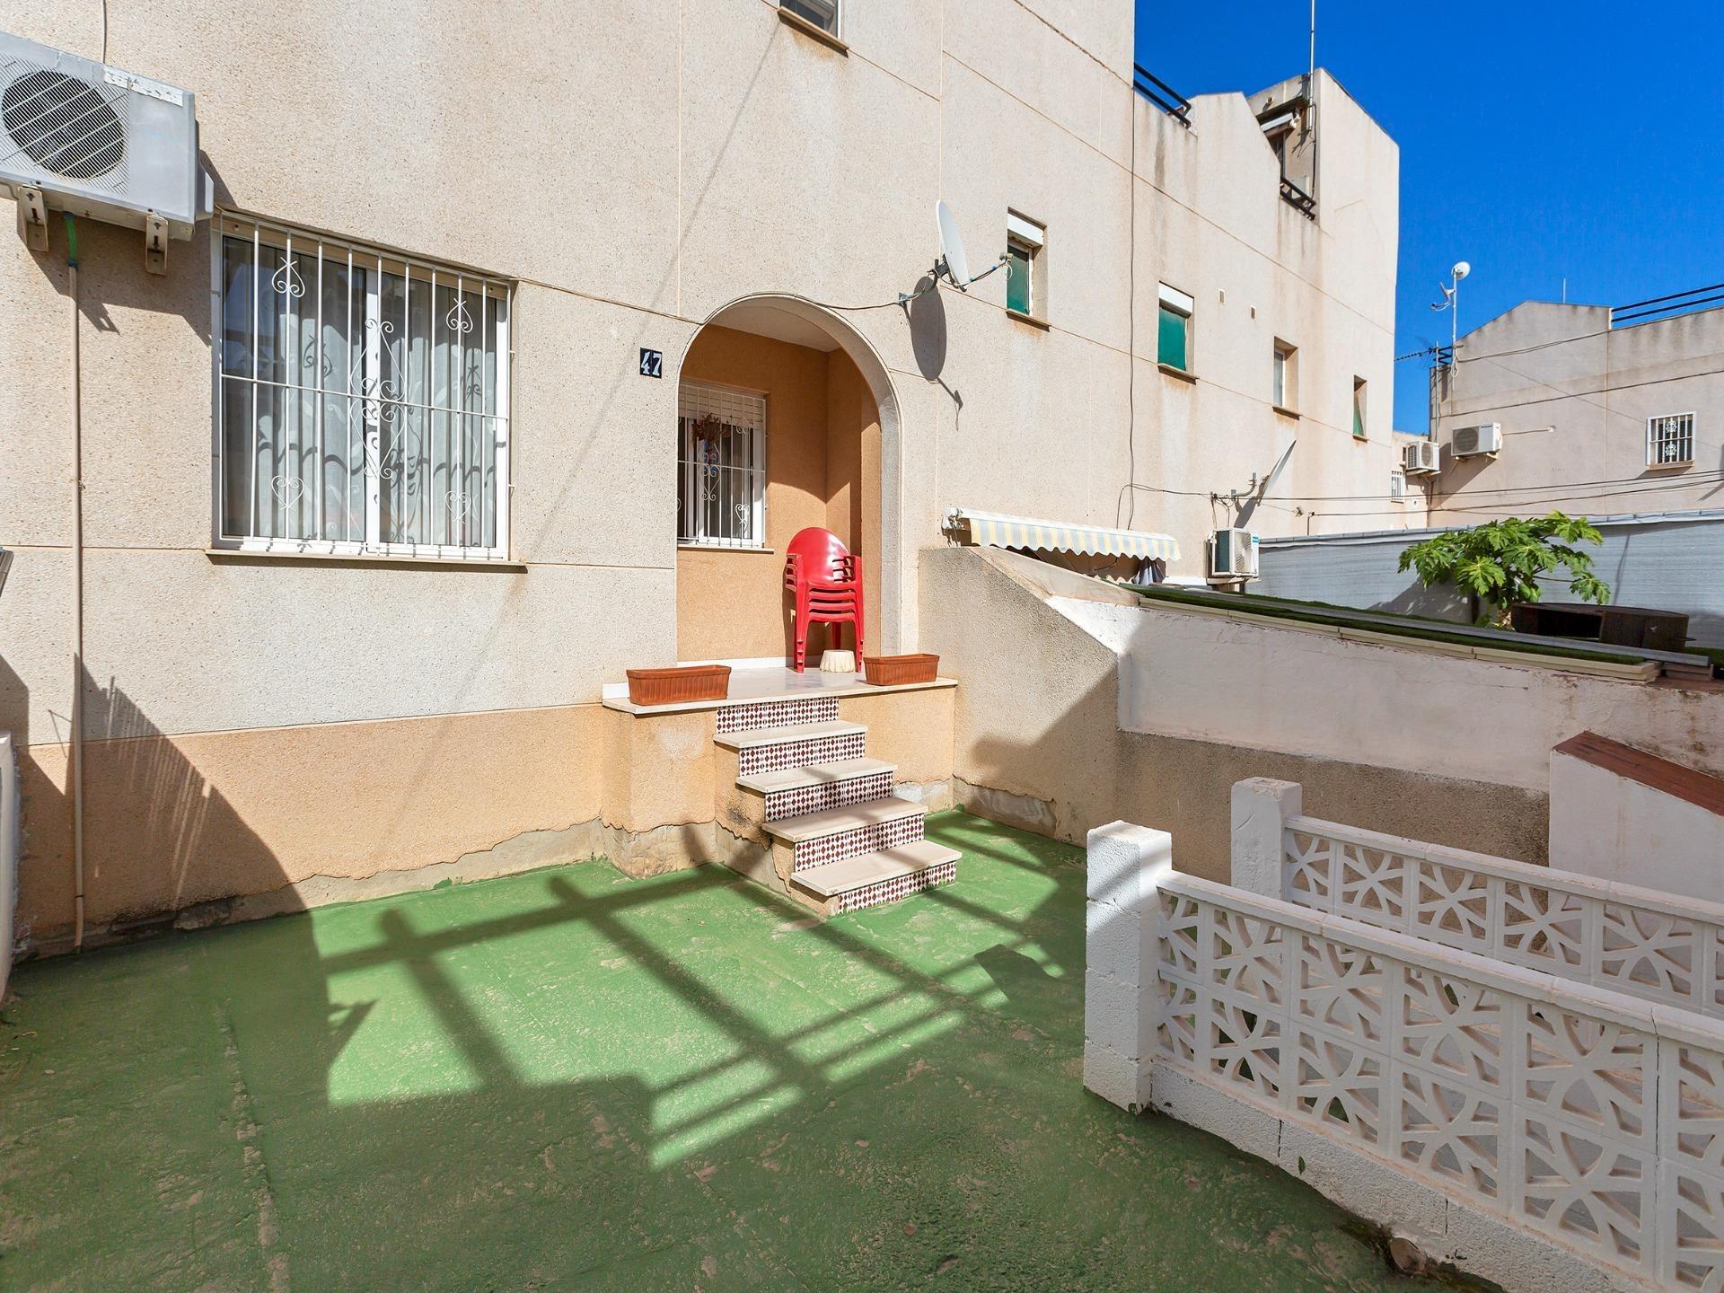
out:
{"label": "small white-barred window inside the arched entrance", "polygon": [[676,445],[676,541],[764,548],[765,397],[684,381]]}

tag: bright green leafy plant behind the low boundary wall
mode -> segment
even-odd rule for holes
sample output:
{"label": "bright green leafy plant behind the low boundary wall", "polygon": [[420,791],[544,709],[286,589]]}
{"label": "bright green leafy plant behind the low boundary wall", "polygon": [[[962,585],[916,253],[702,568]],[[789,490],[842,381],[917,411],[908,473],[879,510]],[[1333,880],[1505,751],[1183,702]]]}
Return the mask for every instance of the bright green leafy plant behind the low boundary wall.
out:
{"label": "bright green leafy plant behind the low boundary wall", "polygon": [[1603,543],[1586,517],[1505,517],[1414,543],[1402,552],[1400,569],[1415,569],[1426,588],[1453,584],[1464,591],[1474,622],[1507,624],[1508,607],[1538,602],[1538,578],[1557,567],[1567,569],[1569,591],[1583,602],[1610,600],[1610,588],[1593,574],[1593,559],[1579,543]]}

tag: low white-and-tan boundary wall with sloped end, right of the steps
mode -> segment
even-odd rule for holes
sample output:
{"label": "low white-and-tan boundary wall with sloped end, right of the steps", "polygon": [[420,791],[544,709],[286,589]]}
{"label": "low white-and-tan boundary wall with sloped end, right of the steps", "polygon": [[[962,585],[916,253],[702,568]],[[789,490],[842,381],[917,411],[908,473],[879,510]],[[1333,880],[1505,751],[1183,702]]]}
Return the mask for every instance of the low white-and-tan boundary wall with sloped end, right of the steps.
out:
{"label": "low white-and-tan boundary wall with sloped end, right of the steps", "polygon": [[[1543,862],[1546,733],[1603,724],[1688,764],[1724,757],[1717,691],[1079,603],[1036,565],[924,553],[922,628],[964,678],[953,774],[969,803],[1057,838],[1124,817],[1171,831],[1181,869],[1224,879],[1229,786],[1271,776],[1302,783],[1321,817]],[[1376,709],[1409,688],[1433,709]]]}

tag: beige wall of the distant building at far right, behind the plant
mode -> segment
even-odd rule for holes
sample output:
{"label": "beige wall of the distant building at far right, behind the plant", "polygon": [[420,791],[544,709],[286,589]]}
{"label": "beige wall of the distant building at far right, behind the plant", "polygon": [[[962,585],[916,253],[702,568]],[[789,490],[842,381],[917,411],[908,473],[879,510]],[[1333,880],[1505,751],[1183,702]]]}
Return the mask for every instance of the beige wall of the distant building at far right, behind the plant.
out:
{"label": "beige wall of the distant building at far right, behind the plant", "polygon": [[[1524,302],[1460,338],[1457,353],[1460,364],[1433,372],[1443,471],[1431,524],[1486,521],[1515,498],[1610,515],[1714,509],[1724,497],[1724,310],[1612,328],[1603,305]],[[1667,414],[1695,414],[1695,457],[1652,467],[1646,419]],[[1455,429],[1481,422],[1502,424],[1502,453],[1457,459]]]}

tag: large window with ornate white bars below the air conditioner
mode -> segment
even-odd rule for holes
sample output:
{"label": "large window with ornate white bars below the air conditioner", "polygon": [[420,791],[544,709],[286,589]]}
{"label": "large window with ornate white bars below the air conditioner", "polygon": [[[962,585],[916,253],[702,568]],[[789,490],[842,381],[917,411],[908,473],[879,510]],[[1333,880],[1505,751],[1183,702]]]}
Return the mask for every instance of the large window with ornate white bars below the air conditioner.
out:
{"label": "large window with ornate white bars below the air conditioner", "polygon": [[509,552],[509,284],[221,214],[219,541]]}

